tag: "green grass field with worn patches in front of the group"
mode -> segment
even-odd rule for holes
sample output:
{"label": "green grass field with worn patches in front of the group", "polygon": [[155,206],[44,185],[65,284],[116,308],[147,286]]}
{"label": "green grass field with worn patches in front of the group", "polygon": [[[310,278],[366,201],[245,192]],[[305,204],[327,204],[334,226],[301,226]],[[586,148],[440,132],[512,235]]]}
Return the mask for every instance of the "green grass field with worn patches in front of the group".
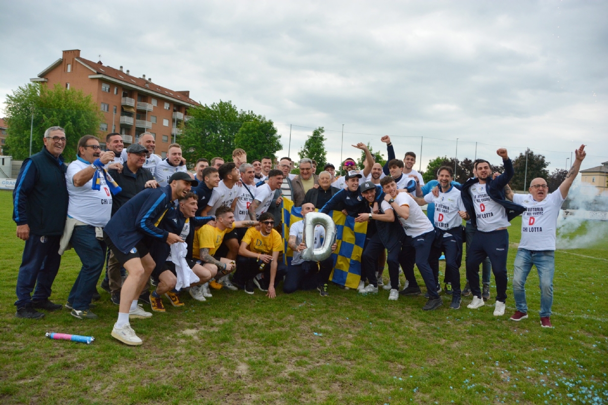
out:
{"label": "green grass field with worn patches in front of the group", "polygon": [[[222,289],[202,303],[182,294],[185,307],[133,320],[144,343],[128,347],[110,336],[118,307],[101,288],[98,320],[67,310],[16,319],[23,242],[11,205],[10,192],[0,192],[2,404],[608,403],[607,240],[556,252],[553,329],[540,327],[533,271],[522,322],[508,319],[511,283],[502,317],[492,315],[493,285],[492,305],[469,310],[464,297],[454,311],[443,296],[443,308],[430,312],[421,310],[422,296],[393,302],[387,291],[358,296],[331,286],[322,298],[279,289],[269,300]],[[519,225],[517,218],[510,227],[512,243]],[[52,300],[66,301],[79,269],[67,252]],[[52,341],[50,331],[96,340]]]}

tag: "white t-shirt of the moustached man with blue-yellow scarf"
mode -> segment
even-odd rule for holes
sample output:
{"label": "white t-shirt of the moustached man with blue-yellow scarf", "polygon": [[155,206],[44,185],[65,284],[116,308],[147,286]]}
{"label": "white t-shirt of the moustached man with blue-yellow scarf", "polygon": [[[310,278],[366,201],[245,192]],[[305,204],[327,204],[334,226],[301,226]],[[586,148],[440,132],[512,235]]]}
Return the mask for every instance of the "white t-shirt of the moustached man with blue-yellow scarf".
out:
{"label": "white t-shirt of the moustached man with blue-yellow scarf", "polygon": [[[87,167],[91,167],[91,164],[81,161],[74,161],[67,167],[67,215],[91,226],[104,227],[112,215],[112,193],[106,184],[103,171],[97,169],[99,190],[92,189],[92,178],[81,187],[74,185],[74,175]],[[52,204],[52,201],[49,201],[49,204]]]}

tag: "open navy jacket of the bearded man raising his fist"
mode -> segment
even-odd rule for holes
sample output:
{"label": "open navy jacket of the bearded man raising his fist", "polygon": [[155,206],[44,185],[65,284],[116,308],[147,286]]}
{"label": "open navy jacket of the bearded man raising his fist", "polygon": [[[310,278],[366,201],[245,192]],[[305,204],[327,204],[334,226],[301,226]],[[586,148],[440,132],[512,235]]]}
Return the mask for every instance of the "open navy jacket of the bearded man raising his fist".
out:
{"label": "open navy jacket of the bearded man raising his fist", "polygon": [[[506,159],[506,161],[503,160],[502,165],[505,167],[505,173],[502,173],[502,175],[498,176],[496,179],[486,182],[486,191],[488,192],[488,195],[492,201],[496,201],[501,206],[505,207],[506,218],[507,220],[511,221],[526,209],[525,207],[519,206],[505,198],[505,185],[511,181],[515,172],[513,170],[513,162],[511,159]],[[460,192],[462,202],[466,207],[466,212],[468,212],[469,216],[471,217],[471,224],[473,224],[475,227],[477,227],[477,216],[475,216],[475,206],[473,205],[473,197],[471,196],[471,193],[469,193],[469,189],[471,189],[473,184],[478,182],[479,179],[476,177],[468,179],[465,184],[463,184]]]}

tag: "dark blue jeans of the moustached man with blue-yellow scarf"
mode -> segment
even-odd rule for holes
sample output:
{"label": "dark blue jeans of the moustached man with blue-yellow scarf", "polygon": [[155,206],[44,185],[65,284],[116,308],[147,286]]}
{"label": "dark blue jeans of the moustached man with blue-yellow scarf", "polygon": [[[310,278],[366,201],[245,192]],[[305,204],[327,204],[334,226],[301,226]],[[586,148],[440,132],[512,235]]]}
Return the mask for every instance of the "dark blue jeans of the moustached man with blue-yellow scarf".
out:
{"label": "dark blue jeans of the moustached man with blue-yellow scarf", "polygon": [[80,257],[82,267],[67,302],[75,310],[87,311],[106,261],[106,243],[95,238],[95,227],[90,225],[75,226],[70,243]]}

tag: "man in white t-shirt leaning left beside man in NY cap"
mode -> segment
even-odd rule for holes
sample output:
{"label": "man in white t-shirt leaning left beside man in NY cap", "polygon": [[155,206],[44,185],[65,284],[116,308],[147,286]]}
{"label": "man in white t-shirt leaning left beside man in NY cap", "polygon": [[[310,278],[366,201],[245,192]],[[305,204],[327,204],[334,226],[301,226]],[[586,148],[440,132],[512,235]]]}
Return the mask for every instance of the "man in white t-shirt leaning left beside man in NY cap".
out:
{"label": "man in white t-shirt leaning left beside man in NY cap", "polygon": [[[380,184],[382,184],[382,189],[386,193],[385,201],[389,202],[392,209],[395,210],[395,213],[399,216],[399,222],[406,232],[403,247],[412,247],[416,252],[415,263],[429,293],[429,300],[422,309],[425,311],[435,310],[443,305],[441,297],[437,293],[437,283],[435,283],[433,271],[429,265],[430,249],[435,241],[435,228],[409,193],[397,192],[397,185],[391,176],[386,176],[380,181]],[[413,283],[415,282],[414,279]],[[410,280],[408,288],[412,287],[412,281]]]}

